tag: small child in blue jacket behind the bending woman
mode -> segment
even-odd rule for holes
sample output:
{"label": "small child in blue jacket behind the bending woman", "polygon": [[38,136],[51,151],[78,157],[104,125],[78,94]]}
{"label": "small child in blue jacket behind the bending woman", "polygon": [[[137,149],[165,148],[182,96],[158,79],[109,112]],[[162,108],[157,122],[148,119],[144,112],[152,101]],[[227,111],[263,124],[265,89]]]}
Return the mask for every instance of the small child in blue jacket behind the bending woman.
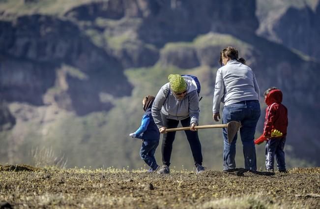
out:
{"label": "small child in blue jacket behind the bending woman", "polygon": [[160,167],[154,157],[160,140],[160,132],[151,115],[154,98],[154,96],[147,95],[142,100],[145,114],[142,117],[141,126],[134,133],[129,134],[131,137],[142,139],[140,156],[150,166],[149,172],[157,171]]}

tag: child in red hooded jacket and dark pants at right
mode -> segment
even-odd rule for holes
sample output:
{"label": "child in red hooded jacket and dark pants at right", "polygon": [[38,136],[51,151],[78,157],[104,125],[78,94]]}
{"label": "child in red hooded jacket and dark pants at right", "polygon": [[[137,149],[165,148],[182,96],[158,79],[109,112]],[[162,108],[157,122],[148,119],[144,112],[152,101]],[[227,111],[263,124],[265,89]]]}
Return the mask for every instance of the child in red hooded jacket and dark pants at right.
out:
{"label": "child in red hooded jacket and dark pants at right", "polygon": [[288,127],[288,110],[281,104],[281,90],[275,87],[267,89],[264,92],[264,101],[267,108],[265,109],[263,133],[255,140],[255,144],[259,145],[267,141],[265,145],[266,170],[273,172],[274,157],[276,157],[279,172],[287,172],[284,147]]}

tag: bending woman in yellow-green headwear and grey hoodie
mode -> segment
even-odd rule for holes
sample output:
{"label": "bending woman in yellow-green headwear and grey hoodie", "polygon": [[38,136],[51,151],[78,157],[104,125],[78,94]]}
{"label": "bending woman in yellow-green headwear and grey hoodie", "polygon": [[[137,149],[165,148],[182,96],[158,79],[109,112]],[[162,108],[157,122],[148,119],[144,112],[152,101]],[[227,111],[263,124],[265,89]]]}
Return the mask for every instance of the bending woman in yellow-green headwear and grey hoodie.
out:
{"label": "bending woman in yellow-green headwear and grey hoodie", "polygon": [[176,128],[181,122],[183,127],[190,127],[184,131],[189,142],[197,174],[204,172],[202,166],[202,150],[195,126],[199,121],[199,95],[197,85],[185,80],[178,74],[169,75],[169,83],[163,85],[153,102],[151,113],[154,122],[163,133],[161,154],[162,167],[159,174],[170,173],[170,158],[172,145],[175,140],[175,131],[166,133],[167,128]]}

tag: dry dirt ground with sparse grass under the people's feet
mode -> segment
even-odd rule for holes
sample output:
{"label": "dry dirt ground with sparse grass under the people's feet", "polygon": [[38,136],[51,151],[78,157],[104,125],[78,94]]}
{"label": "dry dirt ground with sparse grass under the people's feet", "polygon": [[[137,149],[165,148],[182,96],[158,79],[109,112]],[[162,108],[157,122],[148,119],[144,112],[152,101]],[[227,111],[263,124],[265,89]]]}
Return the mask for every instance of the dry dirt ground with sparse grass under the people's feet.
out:
{"label": "dry dirt ground with sparse grass under the people's feet", "polygon": [[0,166],[0,208],[319,209],[320,168],[169,175]]}

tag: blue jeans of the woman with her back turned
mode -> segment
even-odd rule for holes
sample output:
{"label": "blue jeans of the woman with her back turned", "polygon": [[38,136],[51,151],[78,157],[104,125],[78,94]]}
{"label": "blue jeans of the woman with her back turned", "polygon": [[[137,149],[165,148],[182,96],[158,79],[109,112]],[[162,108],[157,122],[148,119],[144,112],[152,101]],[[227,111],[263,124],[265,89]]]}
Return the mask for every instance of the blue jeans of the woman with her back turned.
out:
{"label": "blue jeans of the woman with her back turned", "polygon": [[[228,123],[232,120],[241,123],[240,136],[242,141],[244,167],[256,171],[257,159],[254,144],[257,122],[260,118],[261,110],[258,100],[248,100],[225,106],[222,114],[222,122]],[[237,134],[234,136],[231,145],[228,142],[227,128],[223,128],[223,170],[235,168],[235,143]]]}

